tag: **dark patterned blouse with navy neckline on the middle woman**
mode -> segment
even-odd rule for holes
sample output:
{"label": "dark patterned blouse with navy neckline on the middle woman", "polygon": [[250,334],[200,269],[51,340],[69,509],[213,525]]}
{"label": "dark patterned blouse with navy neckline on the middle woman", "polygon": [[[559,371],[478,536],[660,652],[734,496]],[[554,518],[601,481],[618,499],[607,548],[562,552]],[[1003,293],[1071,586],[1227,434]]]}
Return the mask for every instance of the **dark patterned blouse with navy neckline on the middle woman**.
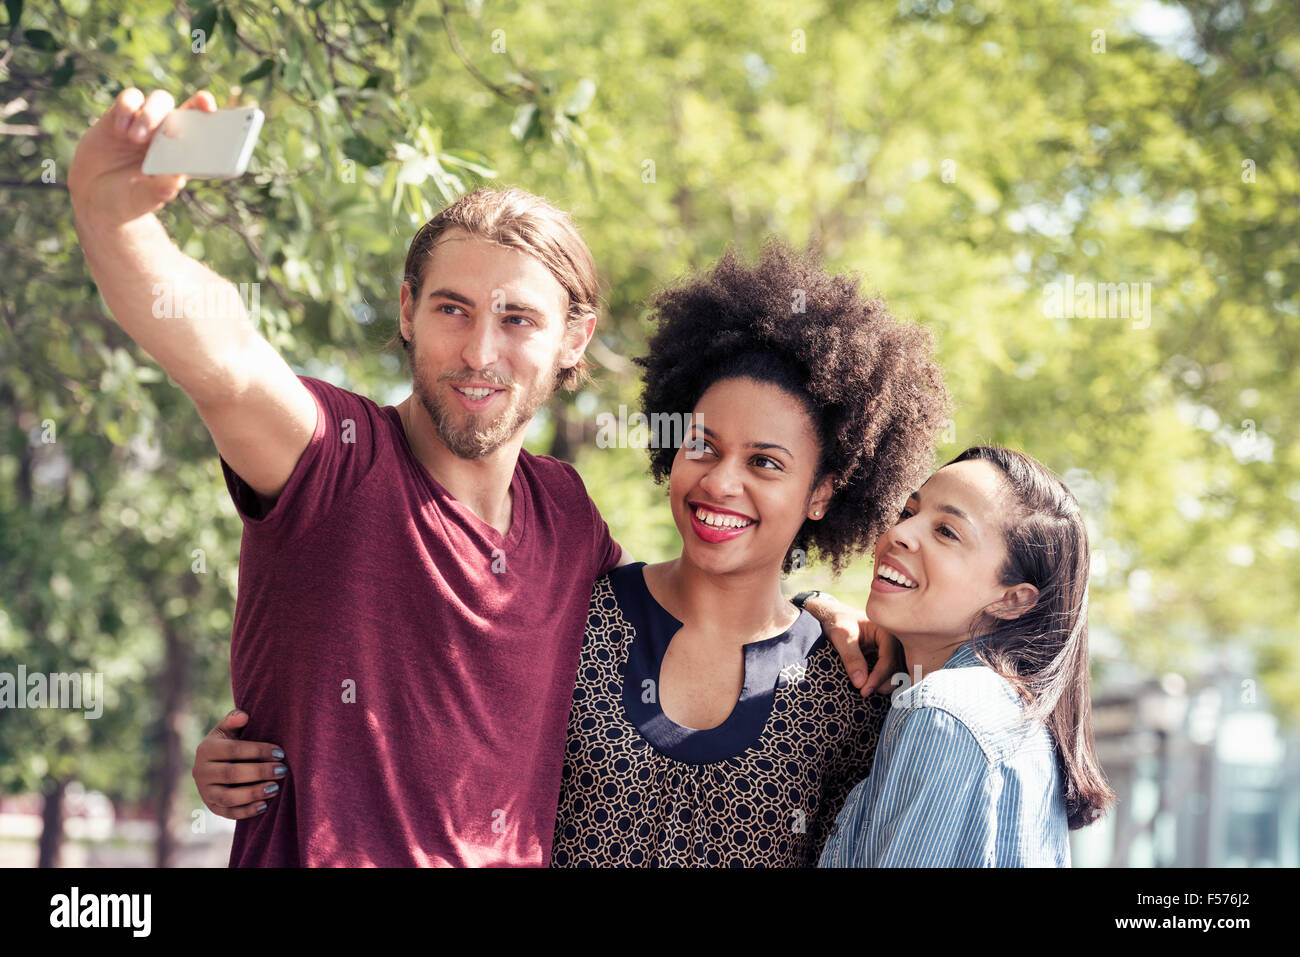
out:
{"label": "dark patterned blouse with navy neckline on the middle woman", "polygon": [[744,646],[745,683],[716,728],[659,707],[681,622],[636,563],[595,583],[560,783],[554,867],[811,867],[871,770],[889,698],[863,698],[803,612]]}

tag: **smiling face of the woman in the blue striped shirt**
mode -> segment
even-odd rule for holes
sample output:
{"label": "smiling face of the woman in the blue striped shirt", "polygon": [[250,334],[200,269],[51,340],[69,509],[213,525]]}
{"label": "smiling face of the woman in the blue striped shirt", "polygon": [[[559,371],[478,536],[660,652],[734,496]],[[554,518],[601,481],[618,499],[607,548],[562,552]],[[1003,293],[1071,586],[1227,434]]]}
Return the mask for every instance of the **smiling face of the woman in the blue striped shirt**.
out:
{"label": "smiling face of the woman in the blue striped shirt", "polygon": [[[982,611],[1008,616],[1032,585],[998,581],[1013,506],[996,465],[945,465],[876,542],[867,616],[901,638],[965,640]],[[893,580],[888,580],[888,579]]]}

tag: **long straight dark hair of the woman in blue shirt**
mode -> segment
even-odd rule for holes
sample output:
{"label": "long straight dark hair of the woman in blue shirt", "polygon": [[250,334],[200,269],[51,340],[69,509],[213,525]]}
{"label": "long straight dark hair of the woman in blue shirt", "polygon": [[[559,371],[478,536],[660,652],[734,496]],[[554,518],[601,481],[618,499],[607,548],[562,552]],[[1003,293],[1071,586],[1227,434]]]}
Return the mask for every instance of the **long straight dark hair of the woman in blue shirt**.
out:
{"label": "long straight dark hair of the woman in blue shirt", "polygon": [[1000,584],[1039,590],[1019,618],[980,616],[975,655],[1019,692],[1026,718],[1052,732],[1070,828],[1084,827],[1115,801],[1092,742],[1088,531],[1074,494],[1041,463],[1010,449],[974,446],[948,464],[971,459],[1001,471],[1018,510],[1005,527]]}

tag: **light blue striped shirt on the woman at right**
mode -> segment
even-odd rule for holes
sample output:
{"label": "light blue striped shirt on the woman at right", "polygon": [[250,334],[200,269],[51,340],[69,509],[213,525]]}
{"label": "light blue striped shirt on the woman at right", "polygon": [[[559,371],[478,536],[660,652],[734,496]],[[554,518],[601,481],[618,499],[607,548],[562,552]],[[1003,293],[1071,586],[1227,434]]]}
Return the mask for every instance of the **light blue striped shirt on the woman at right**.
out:
{"label": "light blue striped shirt on the woman at right", "polygon": [[1069,867],[1052,735],[966,642],[894,692],[871,774],[849,794],[822,867]]}

